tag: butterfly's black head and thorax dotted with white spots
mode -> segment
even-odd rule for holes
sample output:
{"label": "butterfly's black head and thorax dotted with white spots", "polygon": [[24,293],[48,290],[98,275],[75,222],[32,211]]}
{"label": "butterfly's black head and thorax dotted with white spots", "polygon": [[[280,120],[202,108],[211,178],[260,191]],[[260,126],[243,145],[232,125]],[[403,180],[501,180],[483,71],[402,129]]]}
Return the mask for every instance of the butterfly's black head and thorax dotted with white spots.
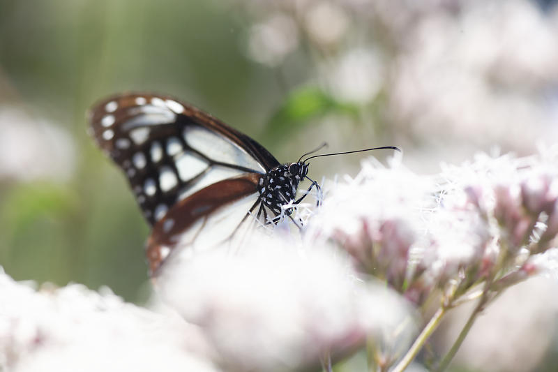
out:
{"label": "butterfly's black head and thorax dotted with white spots", "polygon": [[[276,214],[280,214],[282,206],[296,200],[296,189],[306,174],[308,165],[305,163],[282,164],[269,170],[258,183],[262,202]],[[289,215],[291,211],[285,209],[285,214]]]}

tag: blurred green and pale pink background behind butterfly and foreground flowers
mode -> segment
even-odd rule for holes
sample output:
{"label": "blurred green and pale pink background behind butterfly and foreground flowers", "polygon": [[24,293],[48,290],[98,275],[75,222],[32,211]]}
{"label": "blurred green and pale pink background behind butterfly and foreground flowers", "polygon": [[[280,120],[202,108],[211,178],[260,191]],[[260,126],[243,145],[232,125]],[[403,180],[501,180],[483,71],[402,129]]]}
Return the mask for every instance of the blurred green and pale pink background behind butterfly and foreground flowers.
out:
{"label": "blurred green and pale pink background behind butterfly and foreground flowers", "polygon": [[[148,296],[147,225],[85,132],[88,107],[129,90],[190,102],[284,162],[323,141],[397,145],[416,172],[478,151],[527,155],[558,138],[558,8],[0,0],[0,265],[13,278]],[[316,159],[310,175],[354,175],[361,158]]]}

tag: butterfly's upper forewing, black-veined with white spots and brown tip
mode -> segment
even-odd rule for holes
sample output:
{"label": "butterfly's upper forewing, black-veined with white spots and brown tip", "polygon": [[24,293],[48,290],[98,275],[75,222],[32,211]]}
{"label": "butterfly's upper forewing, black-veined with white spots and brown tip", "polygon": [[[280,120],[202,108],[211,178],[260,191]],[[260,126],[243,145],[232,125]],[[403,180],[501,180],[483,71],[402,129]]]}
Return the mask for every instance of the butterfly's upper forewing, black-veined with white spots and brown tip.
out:
{"label": "butterfly's upper forewing, black-veined with white spots and brown tip", "polygon": [[113,96],[91,109],[89,121],[151,225],[207,186],[280,165],[247,135],[169,96]]}

